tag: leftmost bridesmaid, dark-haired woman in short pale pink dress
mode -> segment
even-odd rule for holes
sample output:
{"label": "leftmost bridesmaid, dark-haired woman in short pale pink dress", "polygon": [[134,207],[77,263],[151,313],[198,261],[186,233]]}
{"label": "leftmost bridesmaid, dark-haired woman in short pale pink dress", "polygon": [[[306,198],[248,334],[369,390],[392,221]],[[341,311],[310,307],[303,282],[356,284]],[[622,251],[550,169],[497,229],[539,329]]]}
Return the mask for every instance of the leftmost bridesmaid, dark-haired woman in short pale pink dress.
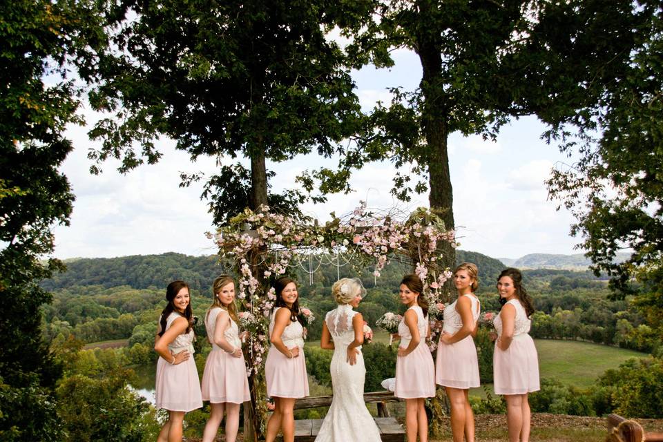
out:
{"label": "leftmost bridesmaid, dark-haired woman in short pale pink dress", "polygon": [[156,406],[168,410],[157,442],[182,441],[184,414],[202,407],[198,370],[193,361],[193,314],[189,285],[176,280],[166,288],[154,349],[157,361]]}

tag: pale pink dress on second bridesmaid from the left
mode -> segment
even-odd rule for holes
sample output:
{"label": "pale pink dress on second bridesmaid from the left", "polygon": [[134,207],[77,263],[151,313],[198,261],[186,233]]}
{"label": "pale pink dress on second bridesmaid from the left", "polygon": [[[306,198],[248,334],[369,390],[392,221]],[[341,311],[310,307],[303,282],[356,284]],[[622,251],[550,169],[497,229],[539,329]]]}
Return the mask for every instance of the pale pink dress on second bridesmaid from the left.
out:
{"label": "pale pink dress on second bridesmaid from the left", "polygon": [[202,400],[211,403],[243,403],[251,400],[249,394],[249,379],[247,378],[247,365],[244,354],[236,358],[214,343],[214,331],[219,315],[228,316],[230,326],[223,336],[233,347],[241,348],[239,328],[237,323],[221,307],[210,309],[205,319],[207,338],[212,343],[212,351],[207,356],[205,371],[202,374]]}

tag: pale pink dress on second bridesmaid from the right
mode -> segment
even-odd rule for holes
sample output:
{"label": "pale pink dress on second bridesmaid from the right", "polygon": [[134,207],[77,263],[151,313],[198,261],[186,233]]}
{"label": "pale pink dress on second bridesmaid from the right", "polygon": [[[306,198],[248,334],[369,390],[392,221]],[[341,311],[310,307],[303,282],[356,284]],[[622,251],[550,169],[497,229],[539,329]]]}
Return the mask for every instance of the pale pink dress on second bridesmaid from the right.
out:
{"label": "pale pink dress on second bridesmaid from the right", "polygon": [[[472,309],[472,320],[474,325],[479,319],[481,305],[479,299],[473,294],[466,294],[470,298]],[[456,303],[452,302],[444,309],[443,332],[455,334],[463,327],[461,315],[456,311]],[[445,344],[441,340],[437,345],[437,356],[435,360],[435,382],[443,387],[468,388],[479,387],[479,359],[477,358],[477,347],[474,345],[472,336],[465,336],[454,344]]]}

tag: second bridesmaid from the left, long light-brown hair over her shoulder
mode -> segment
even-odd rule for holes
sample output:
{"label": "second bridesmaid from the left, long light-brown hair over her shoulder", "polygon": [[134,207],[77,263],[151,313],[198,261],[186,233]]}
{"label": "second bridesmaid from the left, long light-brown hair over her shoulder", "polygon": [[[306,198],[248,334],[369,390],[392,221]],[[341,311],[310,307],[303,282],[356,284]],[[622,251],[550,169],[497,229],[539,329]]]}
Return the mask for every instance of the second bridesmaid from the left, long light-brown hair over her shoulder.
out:
{"label": "second bridesmaid from the left, long light-brown hair over her shoulder", "polygon": [[213,442],[226,412],[226,441],[235,442],[240,427],[240,404],[250,401],[247,366],[237,326],[235,280],[222,275],[212,285],[214,302],[205,317],[212,351],[202,375],[202,399],[210,402],[202,442]]}

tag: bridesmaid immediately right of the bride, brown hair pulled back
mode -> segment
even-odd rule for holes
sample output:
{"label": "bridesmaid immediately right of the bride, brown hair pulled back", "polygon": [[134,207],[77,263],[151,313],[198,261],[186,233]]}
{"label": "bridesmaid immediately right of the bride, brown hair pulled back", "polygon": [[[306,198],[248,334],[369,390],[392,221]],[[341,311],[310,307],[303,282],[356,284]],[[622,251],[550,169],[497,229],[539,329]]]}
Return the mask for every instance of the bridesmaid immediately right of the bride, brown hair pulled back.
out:
{"label": "bridesmaid immediately right of the bride, brown hair pulled back", "polygon": [[399,294],[407,311],[398,324],[396,359],[396,387],[394,396],[405,399],[405,430],[408,441],[428,441],[428,418],[424,407],[425,398],[435,396],[435,367],[426,338],[428,327],[428,302],[424,296],[423,283],[419,276],[405,275]]}

